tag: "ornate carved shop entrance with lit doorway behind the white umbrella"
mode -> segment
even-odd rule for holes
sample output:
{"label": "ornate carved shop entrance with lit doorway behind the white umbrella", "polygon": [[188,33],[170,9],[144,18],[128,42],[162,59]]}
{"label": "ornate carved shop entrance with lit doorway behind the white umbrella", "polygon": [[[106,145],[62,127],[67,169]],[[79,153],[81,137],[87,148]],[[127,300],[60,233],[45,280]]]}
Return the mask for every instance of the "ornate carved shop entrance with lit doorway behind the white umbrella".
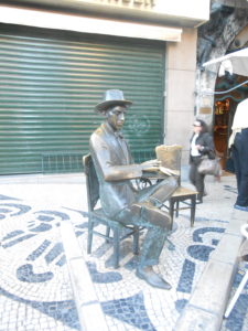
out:
{"label": "ornate carved shop entrance with lit doorway behind the white umbrella", "polygon": [[219,65],[203,68],[202,64],[247,46],[248,2],[245,0],[212,1],[209,21],[198,28],[195,105],[197,116],[205,119],[213,128],[216,149],[223,159],[224,168],[229,153],[227,142],[234,114],[237,104],[248,97],[248,86],[245,84],[231,93],[225,90],[233,89],[248,78],[230,76],[228,73],[219,77]]}

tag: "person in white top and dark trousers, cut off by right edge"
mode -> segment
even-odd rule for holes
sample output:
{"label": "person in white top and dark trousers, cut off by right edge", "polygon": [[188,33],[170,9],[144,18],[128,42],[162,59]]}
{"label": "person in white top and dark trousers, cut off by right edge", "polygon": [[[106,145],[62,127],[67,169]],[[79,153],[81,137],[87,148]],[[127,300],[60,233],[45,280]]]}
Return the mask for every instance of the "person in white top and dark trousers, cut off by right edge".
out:
{"label": "person in white top and dark trousers, cut off by right edge", "polygon": [[234,207],[248,212],[248,98],[238,104],[229,138],[238,196]]}

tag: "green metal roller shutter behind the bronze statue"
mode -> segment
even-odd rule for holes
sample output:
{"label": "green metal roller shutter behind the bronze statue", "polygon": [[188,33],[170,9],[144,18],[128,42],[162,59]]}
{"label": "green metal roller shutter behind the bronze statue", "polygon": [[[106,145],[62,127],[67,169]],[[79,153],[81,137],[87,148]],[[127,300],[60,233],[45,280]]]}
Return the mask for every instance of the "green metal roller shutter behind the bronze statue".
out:
{"label": "green metal roller shutter behind the bronze statue", "polygon": [[94,107],[108,88],[122,89],[133,102],[125,126],[132,151],[161,142],[164,44],[3,28],[1,174],[79,171],[89,136],[103,120]]}

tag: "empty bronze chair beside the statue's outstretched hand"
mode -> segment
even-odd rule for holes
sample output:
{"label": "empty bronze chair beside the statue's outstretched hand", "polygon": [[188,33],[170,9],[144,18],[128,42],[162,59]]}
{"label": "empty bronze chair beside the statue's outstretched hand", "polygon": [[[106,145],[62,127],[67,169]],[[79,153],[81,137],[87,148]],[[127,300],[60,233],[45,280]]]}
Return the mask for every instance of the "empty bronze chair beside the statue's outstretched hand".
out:
{"label": "empty bronze chair beside the statue's outstretched hand", "polygon": [[[177,217],[180,210],[187,209],[191,210],[191,226],[193,226],[195,221],[196,195],[198,192],[181,185],[182,146],[161,145],[155,148],[155,153],[157,158],[162,162],[163,167],[175,170],[179,173],[179,188],[169,199],[168,204],[164,204],[164,206],[169,210],[170,216],[172,218],[172,226],[174,214]],[[183,206],[180,206],[180,203],[182,203]]]}

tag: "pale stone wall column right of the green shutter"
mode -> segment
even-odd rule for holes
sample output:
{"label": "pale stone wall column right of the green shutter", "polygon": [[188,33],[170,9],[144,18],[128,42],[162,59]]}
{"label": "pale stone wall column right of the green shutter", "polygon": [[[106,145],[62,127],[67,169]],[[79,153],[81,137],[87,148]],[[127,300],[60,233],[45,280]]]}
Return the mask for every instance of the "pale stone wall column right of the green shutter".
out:
{"label": "pale stone wall column right of the green shutter", "polygon": [[197,29],[183,29],[180,43],[166,43],[165,145],[182,145],[182,164],[188,160],[188,141],[195,108]]}

